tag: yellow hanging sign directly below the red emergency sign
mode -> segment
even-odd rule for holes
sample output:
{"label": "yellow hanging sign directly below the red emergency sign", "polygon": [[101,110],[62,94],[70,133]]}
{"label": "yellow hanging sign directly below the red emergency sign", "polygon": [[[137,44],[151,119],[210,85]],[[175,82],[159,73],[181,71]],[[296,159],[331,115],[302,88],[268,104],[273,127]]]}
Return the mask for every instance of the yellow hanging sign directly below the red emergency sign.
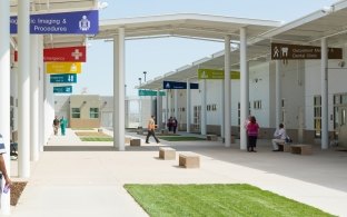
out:
{"label": "yellow hanging sign directly below the red emergency sign", "polygon": [[47,62],[46,73],[80,73],[81,62]]}

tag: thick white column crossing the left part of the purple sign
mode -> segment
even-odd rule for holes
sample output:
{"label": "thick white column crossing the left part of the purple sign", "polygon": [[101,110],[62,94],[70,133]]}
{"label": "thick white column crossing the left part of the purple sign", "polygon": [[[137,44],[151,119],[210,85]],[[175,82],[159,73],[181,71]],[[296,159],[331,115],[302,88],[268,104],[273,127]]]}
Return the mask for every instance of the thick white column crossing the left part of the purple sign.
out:
{"label": "thick white column crossing the left part of the purple sign", "polygon": [[30,176],[29,0],[18,2],[18,175]]}

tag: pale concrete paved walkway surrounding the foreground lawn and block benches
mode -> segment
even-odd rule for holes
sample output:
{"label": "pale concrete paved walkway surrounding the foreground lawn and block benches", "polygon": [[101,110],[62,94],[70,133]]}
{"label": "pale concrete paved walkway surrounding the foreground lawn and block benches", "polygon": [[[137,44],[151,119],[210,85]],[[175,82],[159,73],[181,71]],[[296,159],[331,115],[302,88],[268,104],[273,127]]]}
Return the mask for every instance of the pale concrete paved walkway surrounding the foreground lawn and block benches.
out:
{"label": "pale concrete paved walkway surrounding the foreground lawn and block benches", "polygon": [[[70,129],[65,137],[52,136],[40,160],[32,162],[12,216],[148,216],[123,184],[246,183],[347,217],[346,151],[315,147],[314,155],[299,156],[272,152],[268,140],[259,140],[258,152],[239,150],[238,144],[226,148],[220,141],[161,140],[160,146],[201,156],[199,169],[184,169],[178,159],[158,159],[157,144],[129,136],[143,139],[143,146],[115,151],[112,142],[81,142]],[[17,176],[16,161],[11,170]]]}

